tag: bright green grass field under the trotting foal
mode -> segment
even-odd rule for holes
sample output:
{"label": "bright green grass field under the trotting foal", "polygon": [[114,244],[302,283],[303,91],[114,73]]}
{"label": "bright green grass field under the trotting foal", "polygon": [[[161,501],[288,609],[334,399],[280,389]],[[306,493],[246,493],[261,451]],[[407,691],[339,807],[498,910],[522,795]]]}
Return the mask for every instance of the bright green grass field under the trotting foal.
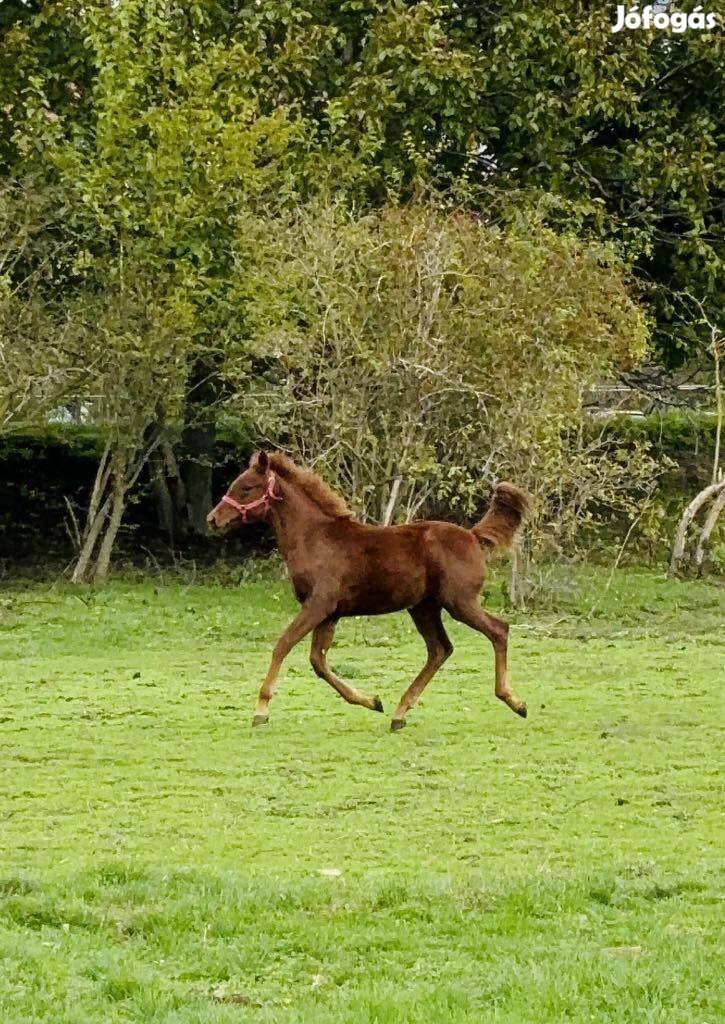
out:
{"label": "bright green grass field under the trotting foal", "polygon": [[306,644],[251,729],[282,583],[0,594],[2,1024],[722,1021],[725,591],[606,580],[515,620],[525,722],[452,624],[396,734]]}

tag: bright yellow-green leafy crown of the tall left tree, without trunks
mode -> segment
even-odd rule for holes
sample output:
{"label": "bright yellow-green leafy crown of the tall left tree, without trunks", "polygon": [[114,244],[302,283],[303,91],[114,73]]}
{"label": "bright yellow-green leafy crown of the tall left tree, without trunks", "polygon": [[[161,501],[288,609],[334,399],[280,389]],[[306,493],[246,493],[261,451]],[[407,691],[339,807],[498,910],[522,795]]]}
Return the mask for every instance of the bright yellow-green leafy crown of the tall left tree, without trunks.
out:
{"label": "bright yellow-green leafy crown of the tall left tree, without trunks", "polygon": [[[208,349],[221,343],[236,313],[225,290],[244,259],[243,247],[232,245],[238,220],[260,195],[298,187],[295,155],[304,139],[284,110],[260,112],[249,55],[206,38],[203,18],[200,31],[188,32],[187,19],[201,17],[204,6],[183,13],[130,0],[113,11],[105,4],[75,10],[92,70],[77,85],[88,116],[73,103],[55,111],[49,89],[56,76],[46,81],[39,68],[18,88],[12,139],[19,169],[39,173],[42,152],[61,190],[71,291],[104,289],[131,259],[168,304],[183,306],[179,326]],[[41,37],[59,31],[63,18],[71,15],[62,5],[50,5]]]}

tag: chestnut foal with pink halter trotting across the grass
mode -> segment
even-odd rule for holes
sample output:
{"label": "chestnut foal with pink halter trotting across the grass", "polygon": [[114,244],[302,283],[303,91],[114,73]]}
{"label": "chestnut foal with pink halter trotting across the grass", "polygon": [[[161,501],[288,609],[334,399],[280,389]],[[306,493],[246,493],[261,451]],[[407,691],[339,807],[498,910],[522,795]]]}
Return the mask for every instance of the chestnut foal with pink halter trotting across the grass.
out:
{"label": "chestnut foal with pink halter trotting across the grass", "polygon": [[342,499],[316,474],[287,456],[255,453],[207,521],[219,532],[245,522],[269,522],[302,607],[274,645],[253,724],[267,721],[282,663],[308,633],[317,676],[349,703],[382,712],[380,698],[338,679],[326,655],[339,618],[406,609],[425,641],[428,658],[395,709],[390,728],[401,729],[406,714],[453,651],[440,621],[442,608],[491,640],[496,695],[525,718],[525,703],[509,687],[508,625],[483,611],[478,594],[486,555],[511,545],[528,508],[525,492],[500,483],[488,511],[472,529],[432,521],[367,525],[352,518]]}

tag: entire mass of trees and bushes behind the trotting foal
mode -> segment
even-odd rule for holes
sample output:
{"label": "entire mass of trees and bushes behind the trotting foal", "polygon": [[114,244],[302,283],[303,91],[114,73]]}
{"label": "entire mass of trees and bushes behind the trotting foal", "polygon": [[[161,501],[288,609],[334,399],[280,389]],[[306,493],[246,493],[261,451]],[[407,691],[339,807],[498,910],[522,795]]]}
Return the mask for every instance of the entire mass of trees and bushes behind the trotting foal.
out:
{"label": "entire mass of trees and bushes behind the trotting foal", "polygon": [[0,424],[102,438],[74,579],[139,487],[202,539],[229,434],[375,520],[513,475],[534,553],[622,514],[654,545],[667,465],[586,410],[722,345],[720,34],[563,3],[0,10]]}

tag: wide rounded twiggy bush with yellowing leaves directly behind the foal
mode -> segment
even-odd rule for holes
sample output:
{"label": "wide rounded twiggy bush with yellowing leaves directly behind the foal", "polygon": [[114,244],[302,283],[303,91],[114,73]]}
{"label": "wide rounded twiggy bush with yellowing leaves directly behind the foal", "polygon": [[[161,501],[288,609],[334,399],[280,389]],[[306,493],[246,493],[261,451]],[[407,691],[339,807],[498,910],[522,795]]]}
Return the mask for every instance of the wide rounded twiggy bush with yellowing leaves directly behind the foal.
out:
{"label": "wide rounded twiggy bush with yellowing leaves directly behind the foal", "polygon": [[369,518],[396,478],[400,518],[471,515],[510,478],[564,544],[594,500],[651,483],[643,446],[583,434],[587,387],[646,345],[609,249],[424,204],[306,208],[274,241],[249,316],[280,353],[282,400],[262,395],[258,419]]}

